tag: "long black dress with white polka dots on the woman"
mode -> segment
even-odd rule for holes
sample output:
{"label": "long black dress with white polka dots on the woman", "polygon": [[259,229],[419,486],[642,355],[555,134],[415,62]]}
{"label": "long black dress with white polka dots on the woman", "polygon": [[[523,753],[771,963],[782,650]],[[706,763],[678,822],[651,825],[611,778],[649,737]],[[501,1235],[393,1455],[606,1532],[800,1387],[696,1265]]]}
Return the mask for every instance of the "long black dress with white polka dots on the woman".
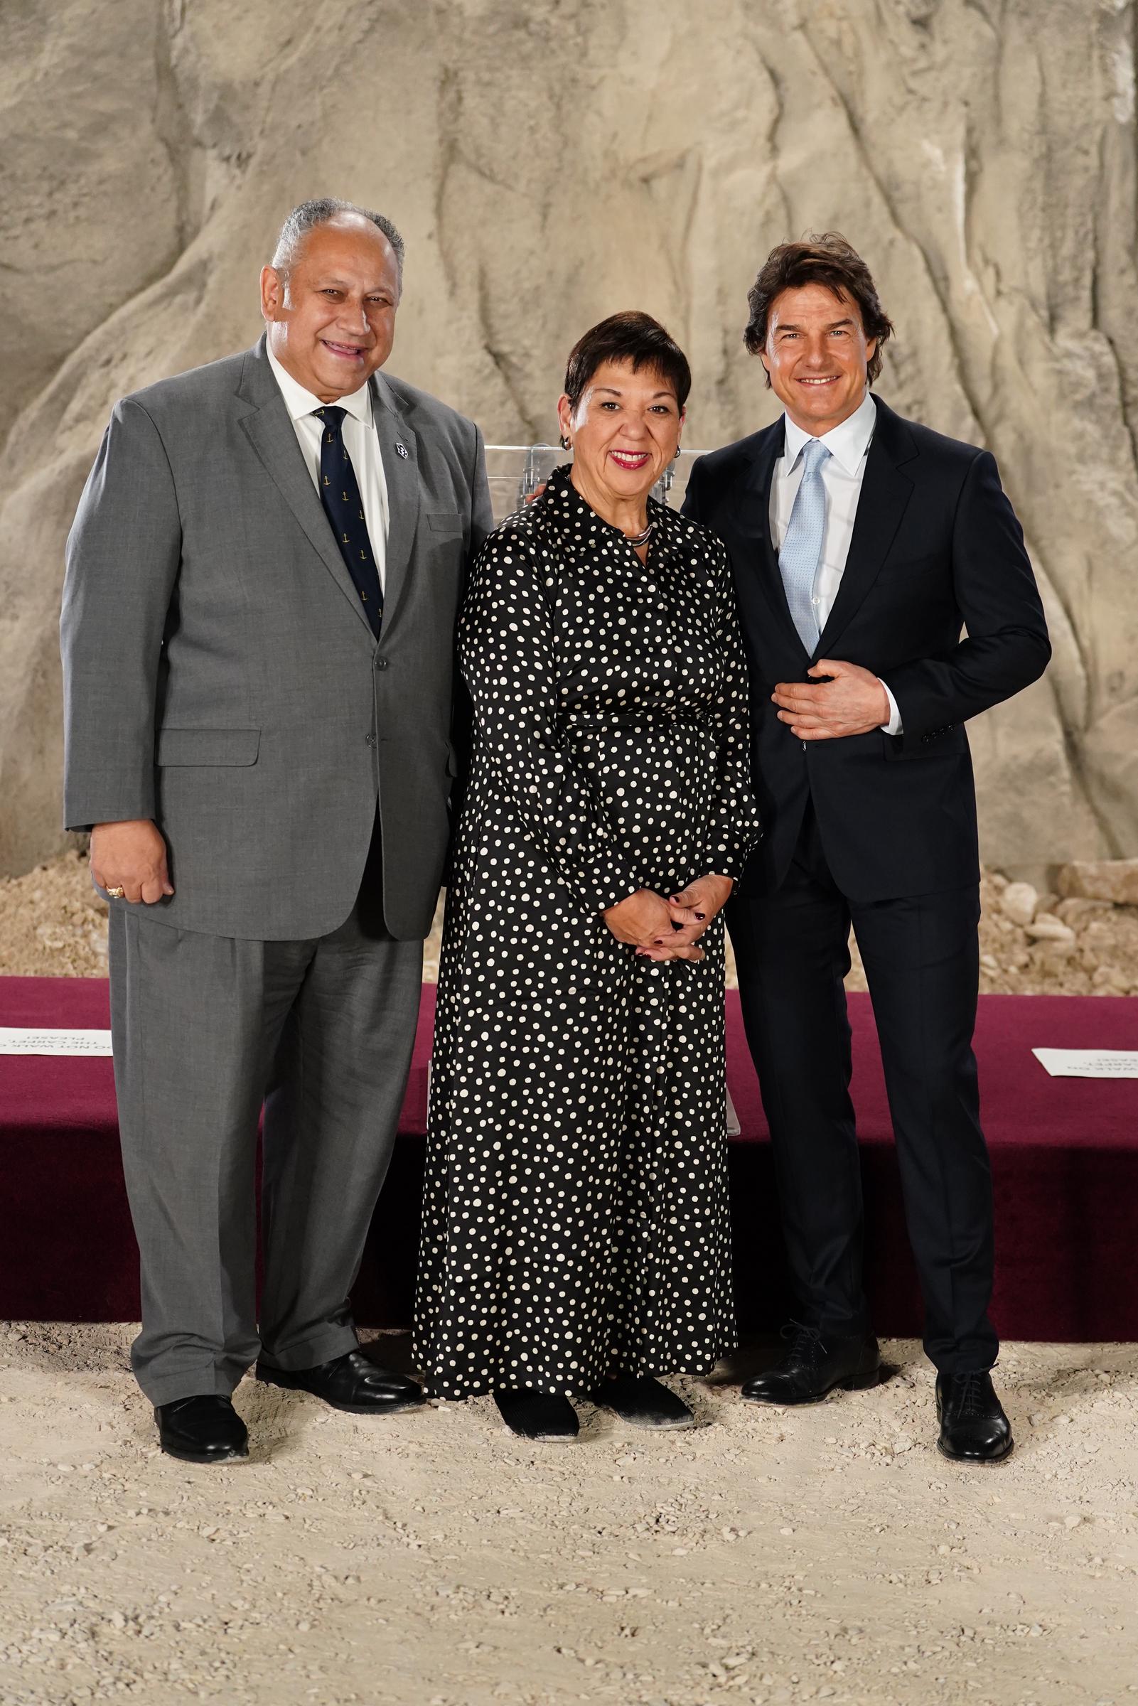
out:
{"label": "long black dress with white polka dots on the woman", "polygon": [[723,925],[638,959],[601,913],[758,839],[723,546],[647,565],[558,471],[483,546],[447,897],[415,1348],[433,1394],[700,1373],[734,1344]]}

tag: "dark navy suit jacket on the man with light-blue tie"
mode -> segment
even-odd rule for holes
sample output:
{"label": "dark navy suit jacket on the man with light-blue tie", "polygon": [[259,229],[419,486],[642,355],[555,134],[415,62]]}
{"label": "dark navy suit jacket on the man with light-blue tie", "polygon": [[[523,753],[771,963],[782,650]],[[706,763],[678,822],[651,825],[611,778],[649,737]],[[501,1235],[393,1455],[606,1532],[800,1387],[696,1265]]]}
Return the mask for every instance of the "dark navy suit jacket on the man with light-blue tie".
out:
{"label": "dark navy suit jacket on the man with light-blue tie", "polygon": [[[995,457],[880,401],[841,587],[810,657],[787,607],[769,496],[783,421],[700,457],[684,514],[727,544],[751,667],[751,751],[764,836],[740,892],[787,875],[807,798],[834,880],[855,901],[979,877],[964,722],[1019,693],[1051,645],[1024,532]],[[962,630],[967,635],[962,638]],[[771,691],[819,657],[889,682],[904,732],[804,744]]]}

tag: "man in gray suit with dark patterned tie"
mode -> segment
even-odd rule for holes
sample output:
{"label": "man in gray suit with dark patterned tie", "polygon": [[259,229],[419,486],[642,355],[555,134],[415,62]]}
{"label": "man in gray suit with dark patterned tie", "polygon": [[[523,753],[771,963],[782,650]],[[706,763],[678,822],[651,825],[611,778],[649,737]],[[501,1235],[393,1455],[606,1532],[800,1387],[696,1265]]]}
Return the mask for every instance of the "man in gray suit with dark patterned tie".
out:
{"label": "man in gray suit with dark patterned tie", "polygon": [[401,283],[389,220],[295,208],[266,336],[116,406],[68,539],[65,822],[111,899],[131,1360],[189,1462],[247,1452],[230,1392],[254,1358],[338,1409],[423,1401],[360,1353],[346,1298],[411,1059],[454,628],[491,517],[478,428],[379,372]]}

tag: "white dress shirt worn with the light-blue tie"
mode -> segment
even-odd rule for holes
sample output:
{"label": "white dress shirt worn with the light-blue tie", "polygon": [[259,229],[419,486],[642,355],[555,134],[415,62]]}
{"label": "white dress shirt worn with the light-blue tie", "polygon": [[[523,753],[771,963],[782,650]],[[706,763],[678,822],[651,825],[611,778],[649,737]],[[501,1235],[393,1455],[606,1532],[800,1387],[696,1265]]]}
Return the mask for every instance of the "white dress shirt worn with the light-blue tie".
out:
{"label": "white dress shirt worn with the light-blue tie", "polygon": [[[867,386],[865,396],[853,415],[819,438],[819,444],[824,444],[829,450],[821,469],[822,488],[826,491],[826,534],[822,537],[822,560],[817,566],[812,601],[819,633],[834,607],[838,587],[846,568],[853,522],[858,514],[858,498],[862,496],[862,479],[865,478],[865,457],[875,425],[877,404]],[[775,462],[775,474],[771,478],[771,539],[775,541],[775,554],[781,551],[783,539],[787,537],[790,512],[802,485],[802,449],[812,437],[802,426],[795,426],[788,415],[783,415],[783,426],[787,432],[785,449]],[[877,679],[880,681],[880,676]],[[897,701],[884,681],[882,688],[885,688],[889,698],[889,722],[880,727],[885,734],[899,735],[901,711],[897,710]]]}

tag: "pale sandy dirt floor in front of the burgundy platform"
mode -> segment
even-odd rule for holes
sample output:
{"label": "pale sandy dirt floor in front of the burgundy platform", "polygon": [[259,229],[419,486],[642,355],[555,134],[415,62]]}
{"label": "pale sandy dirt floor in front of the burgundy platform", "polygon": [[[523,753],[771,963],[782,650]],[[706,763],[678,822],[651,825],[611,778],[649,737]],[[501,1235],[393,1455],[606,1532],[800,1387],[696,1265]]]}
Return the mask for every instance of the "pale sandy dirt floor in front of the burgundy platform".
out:
{"label": "pale sandy dirt floor in front of the burgundy platform", "polygon": [[[0,1338],[0,1703],[1124,1706],[1138,1348],[1008,1346],[1019,1450],[933,1450],[932,1373],[701,1426],[488,1401],[362,1421],[246,1380],[251,1457],[162,1457],[130,1327]],[[403,1336],[377,1346],[406,1358]],[[769,1353],[768,1353],[769,1355]]]}

